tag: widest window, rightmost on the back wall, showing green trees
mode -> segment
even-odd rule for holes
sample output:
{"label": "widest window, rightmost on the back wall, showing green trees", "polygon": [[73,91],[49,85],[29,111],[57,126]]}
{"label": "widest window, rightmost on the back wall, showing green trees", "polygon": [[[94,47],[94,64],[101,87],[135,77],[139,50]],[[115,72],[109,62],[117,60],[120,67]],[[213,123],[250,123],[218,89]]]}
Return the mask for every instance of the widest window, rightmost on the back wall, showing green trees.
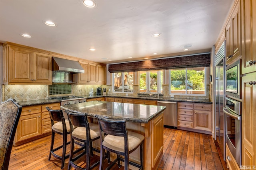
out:
{"label": "widest window, rightmost on the back wall, showing green trees", "polygon": [[206,67],[170,70],[170,94],[206,95]]}

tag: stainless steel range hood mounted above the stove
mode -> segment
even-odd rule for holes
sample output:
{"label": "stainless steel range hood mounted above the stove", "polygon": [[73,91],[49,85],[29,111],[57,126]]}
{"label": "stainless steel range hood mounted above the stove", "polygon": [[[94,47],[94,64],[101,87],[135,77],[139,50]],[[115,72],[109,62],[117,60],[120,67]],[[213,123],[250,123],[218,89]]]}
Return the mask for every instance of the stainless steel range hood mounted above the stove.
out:
{"label": "stainless steel range hood mounted above the stove", "polygon": [[84,73],[84,68],[77,62],[68,59],[52,57],[54,72]]}

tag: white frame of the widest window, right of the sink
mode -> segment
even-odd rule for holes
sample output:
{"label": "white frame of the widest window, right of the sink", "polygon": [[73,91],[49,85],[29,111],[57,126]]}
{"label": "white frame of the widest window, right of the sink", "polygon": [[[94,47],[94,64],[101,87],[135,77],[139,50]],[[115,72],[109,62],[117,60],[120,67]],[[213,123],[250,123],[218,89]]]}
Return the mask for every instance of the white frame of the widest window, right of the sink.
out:
{"label": "white frame of the widest window, right of the sink", "polygon": [[[193,68],[198,68],[198,67],[193,67]],[[188,93],[188,69],[191,68],[180,68],[180,69],[169,69],[168,70],[168,82],[169,82],[169,95],[176,95],[176,96],[206,96],[207,95],[207,67],[202,67],[204,68],[204,94],[190,94]],[[171,70],[182,70],[185,69],[186,73],[186,93],[171,93]]]}

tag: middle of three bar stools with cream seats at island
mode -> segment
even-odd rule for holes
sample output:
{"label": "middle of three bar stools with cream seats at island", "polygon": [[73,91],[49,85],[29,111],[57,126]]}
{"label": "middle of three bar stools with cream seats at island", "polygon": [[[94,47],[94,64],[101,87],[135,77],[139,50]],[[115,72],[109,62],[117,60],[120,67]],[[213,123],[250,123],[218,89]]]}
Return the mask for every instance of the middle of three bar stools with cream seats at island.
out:
{"label": "middle of three bar stools with cream seats at island", "polygon": [[[92,147],[92,142],[96,141],[97,139],[100,139],[100,131],[98,124],[89,123],[86,114],[74,113],[68,110],[65,110],[65,112],[68,114],[68,120],[70,122],[71,127],[71,144],[68,170],[70,170],[71,166],[76,168],[77,170],[89,170],[90,168],[94,168],[96,165],[100,163],[99,160],[95,162],[92,166],[90,166],[90,157],[93,156],[92,151],[100,153],[100,150]],[[74,140],[80,141],[84,143],[84,146],[86,146],[85,151],[77,155],[76,157],[73,157]],[[86,168],[82,168],[75,163],[75,161],[84,154],[86,154]]]}

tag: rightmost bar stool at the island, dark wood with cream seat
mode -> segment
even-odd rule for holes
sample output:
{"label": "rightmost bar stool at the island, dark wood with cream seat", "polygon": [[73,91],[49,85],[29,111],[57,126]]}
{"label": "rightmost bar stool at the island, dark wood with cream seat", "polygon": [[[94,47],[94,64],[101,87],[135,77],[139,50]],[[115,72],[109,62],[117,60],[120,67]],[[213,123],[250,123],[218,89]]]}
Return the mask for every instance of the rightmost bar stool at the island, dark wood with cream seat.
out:
{"label": "rightmost bar stool at the island, dark wood with cream seat", "polygon": [[[105,149],[117,154],[117,158],[106,168],[109,170],[116,162],[120,168],[120,160],[124,162],[124,170],[128,170],[128,164],[143,169],[143,143],[144,136],[132,131],[127,131],[126,120],[108,119],[101,115],[98,118],[100,127],[100,170],[103,169],[103,156]],[[106,136],[105,136],[105,135]],[[129,161],[129,154],[140,147],[140,165]],[[124,156],[121,158],[120,155]]]}

